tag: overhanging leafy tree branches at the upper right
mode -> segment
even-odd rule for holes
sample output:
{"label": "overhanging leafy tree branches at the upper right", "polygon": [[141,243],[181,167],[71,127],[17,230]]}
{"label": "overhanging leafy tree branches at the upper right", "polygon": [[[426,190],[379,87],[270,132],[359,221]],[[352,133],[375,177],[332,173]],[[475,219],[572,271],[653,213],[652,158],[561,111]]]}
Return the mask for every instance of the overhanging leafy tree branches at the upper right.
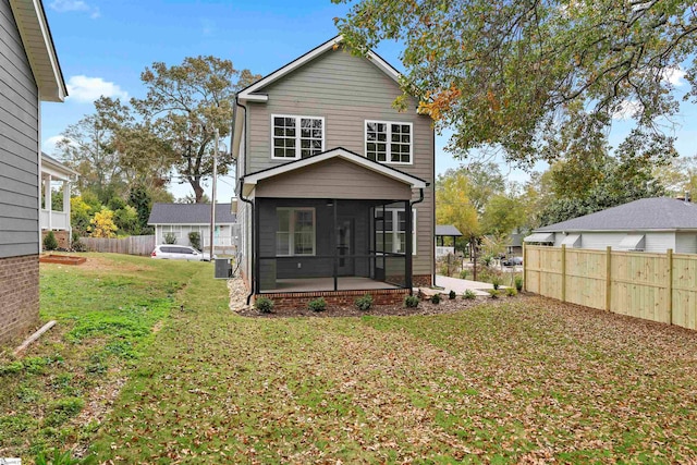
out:
{"label": "overhanging leafy tree branches at the upper right", "polygon": [[[352,3],[353,0],[333,0]],[[356,52],[404,44],[405,94],[461,156],[553,160],[604,139],[613,117],[643,157],[674,155],[657,121],[675,114],[674,77],[695,98],[697,16],[686,0],[357,0],[337,24]],[[396,105],[408,101],[399,99]]]}

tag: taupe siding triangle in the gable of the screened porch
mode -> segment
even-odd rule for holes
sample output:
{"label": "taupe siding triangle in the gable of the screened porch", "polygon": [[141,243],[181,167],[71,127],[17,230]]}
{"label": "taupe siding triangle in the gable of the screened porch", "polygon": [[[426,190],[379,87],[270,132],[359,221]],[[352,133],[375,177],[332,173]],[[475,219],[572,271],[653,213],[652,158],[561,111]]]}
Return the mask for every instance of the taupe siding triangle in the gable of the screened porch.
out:
{"label": "taupe siding triangle in the gable of the screened porch", "polygon": [[333,159],[265,180],[257,185],[256,196],[408,200],[412,189],[350,161]]}

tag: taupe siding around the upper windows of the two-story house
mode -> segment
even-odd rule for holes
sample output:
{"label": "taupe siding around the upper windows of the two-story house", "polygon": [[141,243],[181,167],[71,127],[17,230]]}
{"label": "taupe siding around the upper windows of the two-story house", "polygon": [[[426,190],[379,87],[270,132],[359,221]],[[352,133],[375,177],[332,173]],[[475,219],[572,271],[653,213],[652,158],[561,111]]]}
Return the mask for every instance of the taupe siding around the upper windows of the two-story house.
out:
{"label": "taupe siding around the upper windows of the two-story house", "polygon": [[[325,119],[325,150],[343,147],[365,154],[365,121],[413,123],[412,164],[390,164],[430,183],[417,209],[417,254],[413,274],[431,274],[433,256],[433,130],[428,117],[392,108],[398,84],[367,59],[342,49],[330,50],[260,90],[267,102],[247,102],[246,172],[282,164],[271,159],[271,115]],[[371,195],[372,196],[372,195]],[[414,193],[417,199],[418,193]],[[376,196],[372,196],[376,197]],[[376,198],[379,198],[376,197]]]}

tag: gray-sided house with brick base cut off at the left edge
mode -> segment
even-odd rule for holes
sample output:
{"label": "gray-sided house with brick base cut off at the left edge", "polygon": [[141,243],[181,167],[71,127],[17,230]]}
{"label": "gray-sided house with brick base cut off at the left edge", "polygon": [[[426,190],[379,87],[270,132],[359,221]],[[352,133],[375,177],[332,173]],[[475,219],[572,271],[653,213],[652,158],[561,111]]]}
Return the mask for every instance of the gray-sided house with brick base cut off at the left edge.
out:
{"label": "gray-sided house with brick base cut off at the left edge", "polygon": [[66,95],[41,1],[0,1],[0,342],[39,319],[40,106]]}

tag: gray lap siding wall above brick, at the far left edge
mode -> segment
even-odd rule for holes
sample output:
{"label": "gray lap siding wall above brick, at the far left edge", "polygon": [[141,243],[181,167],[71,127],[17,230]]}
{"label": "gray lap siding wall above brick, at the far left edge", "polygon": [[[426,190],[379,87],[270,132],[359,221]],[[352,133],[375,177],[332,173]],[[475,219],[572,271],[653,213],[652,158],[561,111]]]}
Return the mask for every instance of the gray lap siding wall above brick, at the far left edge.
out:
{"label": "gray lap siding wall above brick, at the far left edge", "polygon": [[10,4],[0,3],[0,258],[39,252],[38,89]]}

